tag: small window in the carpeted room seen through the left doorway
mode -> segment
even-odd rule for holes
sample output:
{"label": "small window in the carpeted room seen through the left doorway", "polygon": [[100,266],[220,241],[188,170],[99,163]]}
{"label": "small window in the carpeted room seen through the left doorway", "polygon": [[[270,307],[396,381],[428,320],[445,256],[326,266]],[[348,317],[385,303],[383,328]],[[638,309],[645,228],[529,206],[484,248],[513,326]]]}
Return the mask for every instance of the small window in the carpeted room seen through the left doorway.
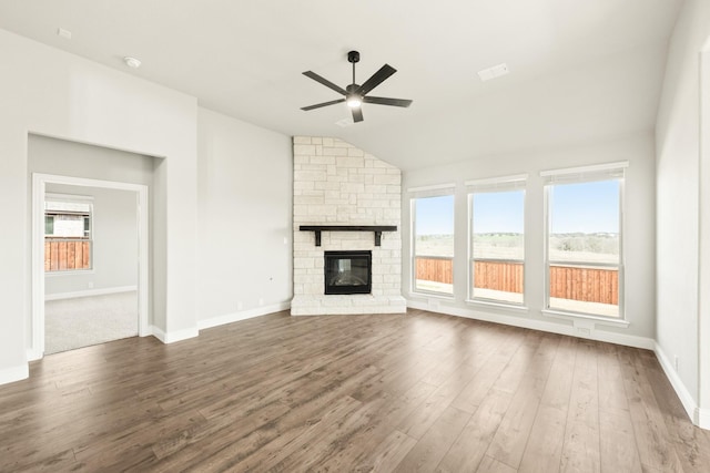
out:
{"label": "small window in the carpeted room seen through the left doorway", "polygon": [[44,271],[75,271],[92,267],[90,197],[48,194],[44,202]]}

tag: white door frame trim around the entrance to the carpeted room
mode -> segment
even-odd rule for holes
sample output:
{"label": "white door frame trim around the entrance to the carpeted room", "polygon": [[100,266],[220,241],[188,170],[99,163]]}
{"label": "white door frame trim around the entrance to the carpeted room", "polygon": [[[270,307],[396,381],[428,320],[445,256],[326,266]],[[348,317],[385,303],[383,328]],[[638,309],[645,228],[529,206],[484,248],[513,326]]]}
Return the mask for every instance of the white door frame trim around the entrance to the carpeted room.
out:
{"label": "white door frame trim around the entrance to the carpeted room", "polygon": [[131,191],[138,195],[138,313],[139,337],[152,335],[150,330],[150,235],[149,189],[143,184],[90,179],[57,174],[32,173],[32,328],[28,349],[29,360],[44,356],[44,197],[47,184],[67,184]]}

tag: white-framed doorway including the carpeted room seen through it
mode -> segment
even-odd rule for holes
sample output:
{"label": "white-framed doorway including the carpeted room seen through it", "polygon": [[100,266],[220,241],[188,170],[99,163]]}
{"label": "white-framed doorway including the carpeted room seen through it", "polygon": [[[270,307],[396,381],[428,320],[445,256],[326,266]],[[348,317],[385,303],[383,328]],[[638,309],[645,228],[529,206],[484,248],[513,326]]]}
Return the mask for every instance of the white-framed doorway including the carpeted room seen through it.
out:
{"label": "white-framed doorway including the carpeted room seen through it", "polygon": [[[80,205],[82,200],[84,205]],[[121,200],[122,207],[118,207]],[[101,218],[95,212],[99,202],[102,203]],[[125,212],[126,207],[132,212]],[[119,208],[123,210],[119,212]],[[116,222],[112,222],[112,217]],[[126,222],[119,222],[121,219]],[[126,223],[129,225],[122,225]],[[97,229],[103,234],[98,244],[94,241],[99,234]],[[30,359],[125,336],[150,335],[148,229],[145,185],[32,174]],[[128,232],[128,238],[133,238],[131,245],[112,245],[111,241],[121,238],[121,232]],[[121,251],[125,254],[121,255]],[[102,271],[94,264],[95,258],[105,265],[106,260],[118,260],[116,257],[132,261],[121,265],[121,269],[119,266],[104,267]],[[116,279],[119,273],[126,271],[128,279]],[[116,285],[115,280],[124,282]],[[102,308],[97,309],[97,305]],[[102,318],[101,311],[109,317]],[[68,317],[69,312],[71,317]],[[58,317],[63,318],[59,330]],[[84,333],[72,337],[72,331]],[[48,335],[53,338],[47,340]]]}

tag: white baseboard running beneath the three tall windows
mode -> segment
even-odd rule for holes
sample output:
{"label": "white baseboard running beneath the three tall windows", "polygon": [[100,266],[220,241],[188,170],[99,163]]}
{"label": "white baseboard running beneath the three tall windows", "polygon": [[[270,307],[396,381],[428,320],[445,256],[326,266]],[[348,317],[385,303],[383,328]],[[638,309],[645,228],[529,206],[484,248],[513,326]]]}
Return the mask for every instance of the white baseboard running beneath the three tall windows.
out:
{"label": "white baseboard running beneath the three tall windows", "polygon": [[[432,311],[432,308],[426,301],[409,299],[407,300],[407,307],[410,307],[413,309]],[[646,350],[653,350],[653,347],[656,345],[653,339],[650,339],[647,337],[638,337],[638,336],[623,335],[623,333],[610,332],[606,330],[595,330],[595,329],[589,330],[588,335],[580,335],[579,331],[575,330],[575,327],[572,327],[571,325],[547,322],[545,320],[536,320],[536,319],[530,319],[528,317],[514,317],[514,316],[506,316],[503,313],[486,312],[481,310],[462,309],[459,307],[444,306],[442,304],[438,305],[435,311],[439,313],[446,313],[448,316],[465,317],[467,319],[476,319],[476,320],[485,320],[487,322],[503,323],[506,326],[540,330],[540,331],[546,331],[550,333],[567,335],[570,337],[586,338],[589,340],[606,341],[609,343],[623,345],[627,347],[643,348]]]}

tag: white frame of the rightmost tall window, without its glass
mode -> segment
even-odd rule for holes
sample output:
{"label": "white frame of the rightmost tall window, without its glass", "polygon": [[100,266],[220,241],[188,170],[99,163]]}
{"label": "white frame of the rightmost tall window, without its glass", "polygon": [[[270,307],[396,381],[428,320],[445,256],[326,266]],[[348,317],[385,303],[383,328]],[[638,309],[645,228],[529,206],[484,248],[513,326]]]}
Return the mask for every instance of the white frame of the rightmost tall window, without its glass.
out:
{"label": "white frame of the rightmost tall window, without its glass", "polygon": [[[592,319],[608,325],[628,326],[626,321],[626,305],[625,305],[625,258],[623,258],[623,223],[625,223],[625,186],[626,186],[626,168],[629,166],[628,161],[606,163],[590,166],[569,167],[564,169],[551,169],[540,172],[542,178],[544,192],[544,258],[545,258],[545,274],[544,274],[544,304],[545,308],[542,313],[552,317],[562,317],[571,319]],[[618,270],[618,316],[604,316],[599,313],[578,312],[571,310],[564,310],[559,308],[550,308],[550,266],[557,264],[590,266],[589,261],[550,261],[549,259],[549,238],[550,238],[550,186],[556,184],[584,184],[600,181],[619,181],[619,263],[617,265],[604,265],[595,264],[595,267],[615,267]],[[586,265],[585,265],[586,263]]]}

